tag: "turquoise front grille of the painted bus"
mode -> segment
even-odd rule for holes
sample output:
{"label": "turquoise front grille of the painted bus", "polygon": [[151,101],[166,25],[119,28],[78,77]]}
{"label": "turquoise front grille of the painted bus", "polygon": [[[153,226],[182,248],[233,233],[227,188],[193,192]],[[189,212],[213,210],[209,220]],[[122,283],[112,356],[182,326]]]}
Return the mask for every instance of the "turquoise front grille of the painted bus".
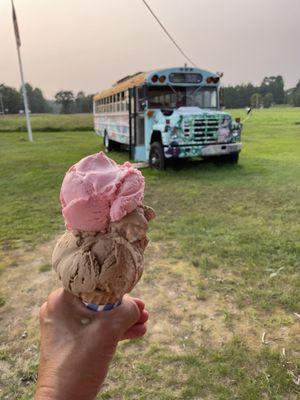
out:
{"label": "turquoise front grille of the painted bus", "polygon": [[194,118],[183,121],[183,134],[189,141],[212,143],[218,139],[219,118]]}

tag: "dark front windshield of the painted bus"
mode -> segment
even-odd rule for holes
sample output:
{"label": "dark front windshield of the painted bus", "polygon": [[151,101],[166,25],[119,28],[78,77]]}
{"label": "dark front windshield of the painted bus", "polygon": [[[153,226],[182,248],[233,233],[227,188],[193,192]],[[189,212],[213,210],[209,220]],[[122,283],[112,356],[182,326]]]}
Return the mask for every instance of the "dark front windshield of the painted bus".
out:
{"label": "dark front windshield of the painted bus", "polygon": [[217,90],[203,87],[150,86],[149,108],[217,108]]}

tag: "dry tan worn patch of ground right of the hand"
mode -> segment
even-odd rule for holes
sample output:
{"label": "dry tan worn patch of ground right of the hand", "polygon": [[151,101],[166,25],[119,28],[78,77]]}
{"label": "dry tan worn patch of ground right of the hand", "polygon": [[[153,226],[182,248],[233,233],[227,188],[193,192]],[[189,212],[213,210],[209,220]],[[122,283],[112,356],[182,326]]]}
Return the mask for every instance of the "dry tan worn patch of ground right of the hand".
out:
{"label": "dry tan worn patch of ground right of the hand", "polygon": [[[272,313],[276,319],[251,307],[240,309],[228,296],[209,289],[214,278],[203,278],[188,262],[170,263],[162,255],[161,245],[151,244],[145,273],[135,292],[152,314],[151,340],[177,352],[189,345],[223,346],[234,337],[241,337],[255,349],[268,346],[280,352],[297,351],[300,320],[296,317],[279,309]],[[206,288],[200,298],[199,282]]]}

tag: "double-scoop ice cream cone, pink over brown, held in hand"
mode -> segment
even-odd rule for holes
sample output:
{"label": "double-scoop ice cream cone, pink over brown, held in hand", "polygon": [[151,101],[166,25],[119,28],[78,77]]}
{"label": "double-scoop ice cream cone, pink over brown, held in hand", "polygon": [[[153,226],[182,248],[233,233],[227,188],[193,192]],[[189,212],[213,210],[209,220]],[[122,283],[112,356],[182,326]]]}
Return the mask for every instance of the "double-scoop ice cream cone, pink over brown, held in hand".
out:
{"label": "double-scoop ice cream cone, pink over brown, held in hand", "polygon": [[142,204],[143,193],[140,171],[130,163],[118,166],[103,153],[66,174],[61,203],[67,230],[52,265],[63,287],[91,309],[120,304],[142,276],[148,222],[155,217]]}

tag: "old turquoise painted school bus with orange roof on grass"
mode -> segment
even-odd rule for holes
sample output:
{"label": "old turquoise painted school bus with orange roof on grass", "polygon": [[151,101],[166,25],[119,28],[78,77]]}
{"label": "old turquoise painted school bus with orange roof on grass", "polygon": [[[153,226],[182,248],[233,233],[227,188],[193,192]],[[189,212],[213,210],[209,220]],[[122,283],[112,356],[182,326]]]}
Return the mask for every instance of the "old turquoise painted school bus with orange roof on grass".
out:
{"label": "old turquoise painted school bus with orange roof on grass", "polygon": [[126,145],[154,169],[187,157],[237,163],[242,124],[220,110],[219,85],[219,75],[190,67],[126,76],[94,96],[94,129],[107,151]]}

